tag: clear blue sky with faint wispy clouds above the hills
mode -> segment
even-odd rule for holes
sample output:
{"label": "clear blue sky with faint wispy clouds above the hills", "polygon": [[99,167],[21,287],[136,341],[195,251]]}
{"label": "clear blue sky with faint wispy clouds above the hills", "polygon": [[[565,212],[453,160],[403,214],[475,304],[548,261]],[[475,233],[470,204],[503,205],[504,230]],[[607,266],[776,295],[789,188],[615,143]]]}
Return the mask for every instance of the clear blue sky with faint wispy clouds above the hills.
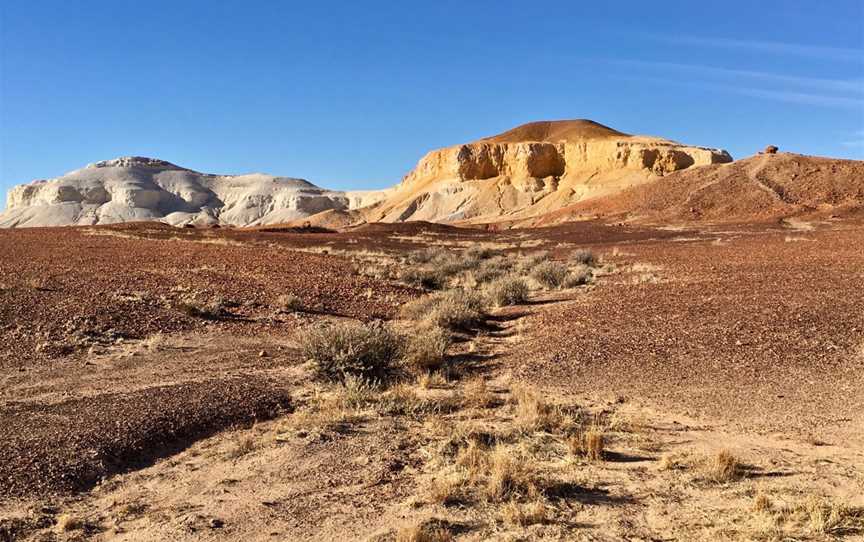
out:
{"label": "clear blue sky with faint wispy clouds above the hills", "polygon": [[861,0],[34,0],[0,33],[3,191],[122,155],[377,188],[564,118],[864,158]]}

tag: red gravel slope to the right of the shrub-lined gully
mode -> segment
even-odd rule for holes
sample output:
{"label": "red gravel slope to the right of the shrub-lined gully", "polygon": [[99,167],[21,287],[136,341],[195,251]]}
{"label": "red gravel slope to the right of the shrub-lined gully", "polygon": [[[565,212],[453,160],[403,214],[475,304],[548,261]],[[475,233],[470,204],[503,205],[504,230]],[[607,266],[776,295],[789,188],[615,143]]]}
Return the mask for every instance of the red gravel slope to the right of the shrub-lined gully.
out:
{"label": "red gravel slope to the right of the shrub-lined gully", "polygon": [[502,362],[518,377],[750,428],[864,438],[853,427],[864,415],[864,230],[748,227],[614,248],[622,269],[656,269],[539,313]]}

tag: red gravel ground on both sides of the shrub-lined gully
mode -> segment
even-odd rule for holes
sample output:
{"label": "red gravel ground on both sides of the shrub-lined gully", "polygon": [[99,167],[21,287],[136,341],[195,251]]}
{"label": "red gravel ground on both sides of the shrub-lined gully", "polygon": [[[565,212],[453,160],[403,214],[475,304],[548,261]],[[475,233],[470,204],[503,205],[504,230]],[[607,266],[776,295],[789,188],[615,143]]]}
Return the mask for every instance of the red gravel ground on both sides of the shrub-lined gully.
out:
{"label": "red gravel ground on both sides of the shrub-lined gully", "polygon": [[[276,348],[322,315],[393,316],[419,292],[357,274],[339,251],[433,241],[534,240],[532,250],[561,257],[588,246],[624,270],[572,301],[530,309],[525,340],[496,360],[517,378],[766,430],[851,427],[864,414],[864,228],[727,230],[591,222],[500,233],[428,224],[0,231],[0,494],[85,488],[289,407],[290,383],[268,371],[303,360],[290,346],[259,359],[257,345]],[[324,246],[330,255],[297,250]],[[657,269],[628,271],[631,263]],[[278,310],[288,293],[304,313]],[[227,313],[190,316],[190,296],[221,298]],[[104,358],[156,333],[200,344]],[[219,341],[227,346],[207,350]]]}

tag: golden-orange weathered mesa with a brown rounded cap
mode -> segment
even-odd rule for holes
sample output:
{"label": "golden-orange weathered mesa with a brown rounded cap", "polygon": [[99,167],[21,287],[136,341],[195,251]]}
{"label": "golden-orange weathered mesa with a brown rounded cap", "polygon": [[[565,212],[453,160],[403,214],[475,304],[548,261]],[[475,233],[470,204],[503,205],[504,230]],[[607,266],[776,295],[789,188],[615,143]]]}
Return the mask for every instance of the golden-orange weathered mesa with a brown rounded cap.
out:
{"label": "golden-orange weathered mesa with a brown rounded cap", "polygon": [[426,154],[369,216],[482,222],[542,214],[673,171],[731,161],[723,150],[630,136],[591,121],[531,123]]}

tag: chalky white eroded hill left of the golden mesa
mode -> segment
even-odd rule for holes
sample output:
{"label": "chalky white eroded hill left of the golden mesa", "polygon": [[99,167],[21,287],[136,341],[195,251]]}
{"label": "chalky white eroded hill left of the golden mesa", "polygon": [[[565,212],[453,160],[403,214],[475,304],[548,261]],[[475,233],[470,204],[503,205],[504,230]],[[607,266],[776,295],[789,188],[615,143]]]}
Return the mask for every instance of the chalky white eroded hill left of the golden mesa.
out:
{"label": "chalky white eroded hill left of the golden mesa", "polygon": [[136,220],[250,226],[374,203],[379,192],[325,190],[264,174],[210,175],[153,158],[90,164],[13,188],[0,227],[92,225]]}

